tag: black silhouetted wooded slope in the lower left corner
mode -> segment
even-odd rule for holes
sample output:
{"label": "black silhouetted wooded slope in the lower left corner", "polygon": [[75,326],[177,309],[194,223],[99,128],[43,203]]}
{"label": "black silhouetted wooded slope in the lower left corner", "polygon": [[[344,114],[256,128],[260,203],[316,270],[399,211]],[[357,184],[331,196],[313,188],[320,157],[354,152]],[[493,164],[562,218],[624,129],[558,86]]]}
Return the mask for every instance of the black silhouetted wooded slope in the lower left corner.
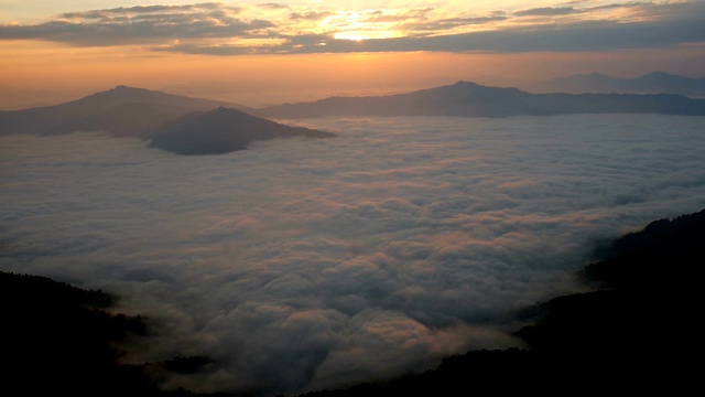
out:
{"label": "black silhouetted wooded slope in the lower left corner", "polygon": [[120,364],[116,343],[150,334],[142,316],[109,314],[117,297],[46,277],[0,271],[0,394],[7,396],[195,396],[162,391],[160,378],[193,374],[207,357]]}

